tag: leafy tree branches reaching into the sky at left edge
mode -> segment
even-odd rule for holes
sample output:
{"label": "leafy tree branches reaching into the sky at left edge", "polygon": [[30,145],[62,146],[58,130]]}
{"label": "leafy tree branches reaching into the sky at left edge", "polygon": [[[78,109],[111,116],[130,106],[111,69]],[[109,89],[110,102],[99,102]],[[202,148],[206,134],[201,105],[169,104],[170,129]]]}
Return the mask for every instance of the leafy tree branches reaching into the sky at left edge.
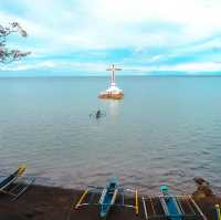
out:
{"label": "leafy tree branches reaching into the sky at left edge", "polygon": [[18,61],[21,57],[29,55],[31,52],[21,52],[19,50],[7,49],[7,36],[12,33],[19,33],[21,36],[27,38],[27,32],[21,28],[18,22],[12,22],[9,27],[2,27],[0,24],[0,63],[11,63]]}

